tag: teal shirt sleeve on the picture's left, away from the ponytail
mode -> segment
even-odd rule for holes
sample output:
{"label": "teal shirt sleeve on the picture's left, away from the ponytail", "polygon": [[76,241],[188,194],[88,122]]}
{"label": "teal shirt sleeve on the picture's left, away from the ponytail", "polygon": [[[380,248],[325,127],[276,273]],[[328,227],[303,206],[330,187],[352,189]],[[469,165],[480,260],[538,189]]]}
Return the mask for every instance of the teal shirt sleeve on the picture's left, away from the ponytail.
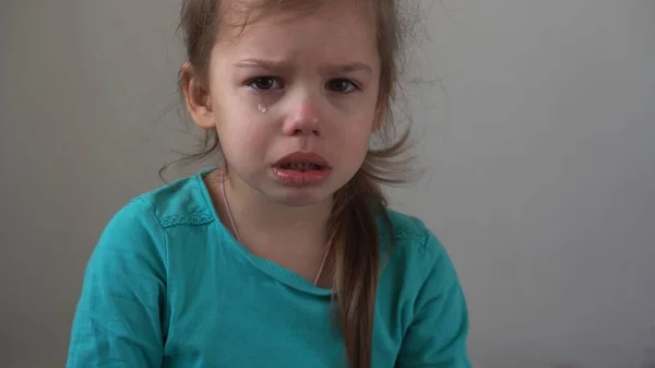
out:
{"label": "teal shirt sleeve on the picture's left, away from the ponytail", "polygon": [[84,273],[67,368],[162,366],[163,233],[143,200],[109,222]]}

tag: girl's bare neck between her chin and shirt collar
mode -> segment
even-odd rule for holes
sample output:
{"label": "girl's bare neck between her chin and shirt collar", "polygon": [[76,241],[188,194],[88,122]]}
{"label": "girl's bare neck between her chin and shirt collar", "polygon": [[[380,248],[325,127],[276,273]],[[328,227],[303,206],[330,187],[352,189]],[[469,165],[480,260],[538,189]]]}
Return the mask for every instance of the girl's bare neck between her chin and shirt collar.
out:
{"label": "girl's bare neck between her chin and shirt collar", "polygon": [[[289,206],[266,199],[237,177],[226,176],[224,180],[227,203],[219,180],[210,180],[210,188],[218,194],[213,197],[224,224],[243,244],[269,249],[284,245],[286,251],[299,254],[324,249],[332,199],[308,206]],[[229,221],[228,206],[235,226]]]}

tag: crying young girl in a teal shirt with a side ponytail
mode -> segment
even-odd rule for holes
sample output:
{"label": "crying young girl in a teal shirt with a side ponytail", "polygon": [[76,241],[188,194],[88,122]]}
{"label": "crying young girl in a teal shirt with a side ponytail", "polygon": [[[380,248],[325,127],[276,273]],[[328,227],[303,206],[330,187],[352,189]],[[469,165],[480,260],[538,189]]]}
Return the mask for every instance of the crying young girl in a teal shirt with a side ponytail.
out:
{"label": "crying young girl in a teal shirt with a side ponytail", "polygon": [[111,219],[69,368],[469,367],[446,252],[380,189],[404,140],[369,149],[391,123],[398,2],[183,1],[180,86],[223,164]]}

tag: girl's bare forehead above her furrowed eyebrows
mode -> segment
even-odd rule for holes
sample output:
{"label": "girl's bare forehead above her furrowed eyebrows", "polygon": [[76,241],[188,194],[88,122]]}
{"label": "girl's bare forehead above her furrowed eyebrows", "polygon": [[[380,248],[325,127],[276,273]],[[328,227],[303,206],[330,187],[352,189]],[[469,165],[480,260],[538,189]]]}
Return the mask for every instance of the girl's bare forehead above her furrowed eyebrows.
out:
{"label": "girl's bare forehead above her furrowed eyebrows", "polygon": [[216,47],[223,56],[251,52],[288,59],[311,54],[326,61],[377,58],[372,12],[357,1],[327,2],[331,7],[309,10],[251,11],[246,25],[243,16],[233,15],[219,29]]}

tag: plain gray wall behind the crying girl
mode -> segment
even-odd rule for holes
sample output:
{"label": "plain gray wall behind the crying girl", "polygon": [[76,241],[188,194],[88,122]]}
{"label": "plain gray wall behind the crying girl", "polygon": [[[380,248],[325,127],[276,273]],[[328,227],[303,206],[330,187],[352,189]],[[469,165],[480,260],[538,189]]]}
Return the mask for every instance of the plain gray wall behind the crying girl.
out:
{"label": "plain gray wall behind the crying girl", "polygon": [[[191,141],[175,0],[0,4],[0,367],[63,366],[109,217]],[[436,1],[392,191],[449,248],[477,367],[655,349],[655,2]],[[655,355],[655,353],[654,353]],[[655,357],[655,356],[654,356]]]}

